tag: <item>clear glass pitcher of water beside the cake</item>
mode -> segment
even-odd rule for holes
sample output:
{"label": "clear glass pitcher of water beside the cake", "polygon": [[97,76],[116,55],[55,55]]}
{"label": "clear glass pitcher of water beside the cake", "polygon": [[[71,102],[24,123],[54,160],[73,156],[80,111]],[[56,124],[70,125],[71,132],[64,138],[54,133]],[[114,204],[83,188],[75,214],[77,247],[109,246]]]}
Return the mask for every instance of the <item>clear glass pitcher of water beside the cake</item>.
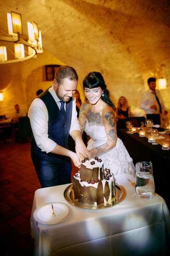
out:
{"label": "clear glass pitcher of water beside the cake", "polygon": [[151,162],[136,163],[135,190],[140,198],[150,199],[155,195],[153,167]]}

